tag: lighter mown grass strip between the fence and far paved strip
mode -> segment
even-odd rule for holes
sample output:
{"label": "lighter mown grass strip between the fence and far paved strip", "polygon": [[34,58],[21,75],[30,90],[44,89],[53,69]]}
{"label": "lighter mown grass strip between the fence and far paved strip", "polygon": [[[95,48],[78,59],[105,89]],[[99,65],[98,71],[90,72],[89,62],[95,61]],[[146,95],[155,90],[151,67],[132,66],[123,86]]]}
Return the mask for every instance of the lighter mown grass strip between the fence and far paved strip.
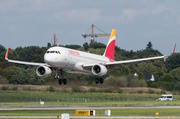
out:
{"label": "lighter mown grass strip between the fence and far paved strip", "polygon": [[[40,105],[40,102],[6,102],[0,107],[25,107],[26,105]],[[45,105],[87,105],[87,106],[132,106],[132,105],[180,105],[180,101],[110,101],[110,102],[45,102]]]}

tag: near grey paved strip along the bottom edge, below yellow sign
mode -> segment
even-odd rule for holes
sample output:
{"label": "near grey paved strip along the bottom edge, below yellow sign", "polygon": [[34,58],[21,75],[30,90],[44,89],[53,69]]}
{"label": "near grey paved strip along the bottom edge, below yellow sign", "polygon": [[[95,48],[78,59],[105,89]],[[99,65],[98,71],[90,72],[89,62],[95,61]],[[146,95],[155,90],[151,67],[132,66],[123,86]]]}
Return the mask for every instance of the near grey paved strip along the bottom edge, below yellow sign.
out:
{"label": "near grey paved strip along the bottom edge, below yellow sign", "polygon": [[[57,116],[0,116],[0,118],[57,118]],[[61,118],[61,116],[59,116]],[[70,116],[71,118],[76,118],[76,119],[157,119],[157,118],[180,118],[180,117],[156,117],[156,116]]]}

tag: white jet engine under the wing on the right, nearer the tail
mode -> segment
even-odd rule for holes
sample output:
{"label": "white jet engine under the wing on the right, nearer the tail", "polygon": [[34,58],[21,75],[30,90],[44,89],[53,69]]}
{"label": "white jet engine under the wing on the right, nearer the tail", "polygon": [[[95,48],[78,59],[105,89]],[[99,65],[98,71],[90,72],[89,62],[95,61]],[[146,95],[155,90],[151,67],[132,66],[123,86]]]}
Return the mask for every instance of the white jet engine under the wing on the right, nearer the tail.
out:
{"label": "white jet engine under the wing on the right, nearer the tail", "polygon": [[92,67],[92,73],[94,75],[103,76],[107,73],[107,68],[103,65],[96,64]]}

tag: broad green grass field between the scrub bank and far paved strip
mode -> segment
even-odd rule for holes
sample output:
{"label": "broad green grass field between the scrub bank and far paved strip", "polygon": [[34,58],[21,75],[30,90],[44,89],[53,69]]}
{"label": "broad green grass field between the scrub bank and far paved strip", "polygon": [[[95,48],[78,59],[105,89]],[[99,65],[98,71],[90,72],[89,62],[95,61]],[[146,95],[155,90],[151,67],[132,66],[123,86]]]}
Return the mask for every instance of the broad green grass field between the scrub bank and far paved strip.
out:
{"label": "broad green grass field between the scrub bank and far paved strip", "polygon": [[124,94],[124,93],[72,93],[46,91],[4,91],[0,92],[0,107],[5,105],[180,105],[180,96],[174,95],[174,101],[156,101],[161,94]]}

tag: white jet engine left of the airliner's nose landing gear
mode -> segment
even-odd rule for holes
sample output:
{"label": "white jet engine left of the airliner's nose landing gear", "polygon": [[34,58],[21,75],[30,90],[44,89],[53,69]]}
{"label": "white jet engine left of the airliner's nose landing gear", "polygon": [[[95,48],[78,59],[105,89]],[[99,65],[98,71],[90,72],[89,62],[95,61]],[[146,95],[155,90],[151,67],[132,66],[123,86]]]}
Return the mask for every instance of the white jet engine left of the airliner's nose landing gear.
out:
{"label": "white jet engine left of the airliner's nose landing gear", "polygon": [[52,71],[49,67],[47,66],[39,66],[37,69],[36,69],[36,73],[38,76],[42,77],[42,78],[46,78],[48,76],[51,75]]}

